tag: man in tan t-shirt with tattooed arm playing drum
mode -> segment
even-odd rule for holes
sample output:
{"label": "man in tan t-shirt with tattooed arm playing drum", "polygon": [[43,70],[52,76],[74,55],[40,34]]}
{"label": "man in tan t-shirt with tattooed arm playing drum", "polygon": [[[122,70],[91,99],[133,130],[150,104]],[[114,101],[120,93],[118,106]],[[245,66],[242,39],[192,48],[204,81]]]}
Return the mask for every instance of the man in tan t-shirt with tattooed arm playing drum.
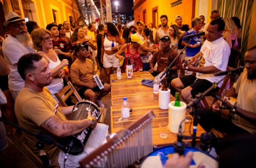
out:
{"label": "man in tan t-shirt with tattooed arm playing drum", "polygon": [[[59,107],[45,87],[51,83],[52,77],[47,61],[40,55],[32,53],[23,55],[18,61],[17,69],[25,80],[25,86],[15,101],[15,114],[21,127],[54,138],[78,134],[87,127],[98,129],[99,125],[90,112],[86,119],[67,120],[65,115],[72,113],[73,106]],[[23,132],[23,135],[29,148],[39,156],[39,150],[35,147],[38,140],[26,132]],[[45,144],[44,151],[50,159],[51,167],[58,167],[59,164],[63,166],[61,165],[64,161],[63,152],[60,153],[57,147]],[[80,155],[72,157],[80,157]],[[66,167],[79,167],[78,161],[75,163],[69,157]]]}

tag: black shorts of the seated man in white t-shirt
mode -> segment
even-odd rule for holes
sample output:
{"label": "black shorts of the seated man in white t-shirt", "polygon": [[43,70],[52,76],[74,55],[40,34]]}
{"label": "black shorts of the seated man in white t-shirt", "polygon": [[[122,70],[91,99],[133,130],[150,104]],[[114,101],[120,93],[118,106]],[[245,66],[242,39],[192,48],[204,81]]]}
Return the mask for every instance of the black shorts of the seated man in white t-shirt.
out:
{"label": "black shorts of the seated man in white t-shirt", "polygon": [[[209,80],[197,79],[195,75],[185,75],[180,77],[180,80],[184,87],[190,86],[192,88],[191,95],[194,98],[196,94],[203,93],[208,88],[212,86],[212,83]],[[217,92],[219,88],[212,89],[210,93]]]}

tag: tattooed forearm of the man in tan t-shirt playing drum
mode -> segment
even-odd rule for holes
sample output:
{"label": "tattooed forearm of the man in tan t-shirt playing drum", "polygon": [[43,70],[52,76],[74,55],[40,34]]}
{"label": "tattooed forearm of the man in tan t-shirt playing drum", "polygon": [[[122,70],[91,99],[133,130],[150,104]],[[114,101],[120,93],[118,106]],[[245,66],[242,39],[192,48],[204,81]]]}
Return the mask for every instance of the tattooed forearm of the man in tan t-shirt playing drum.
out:
{"label": "tattooed forearm of the man in tan t-shirt playing drum", "polygon": [[[91,115],[88,114],[88,117],[91,117]],[[93,120],[95,121],[95,123],[97,123],[95,119]],[[62,121],[59,120],[56,116],[50,117],[41,125],[41,127],[58,137],[67,137],[70,135],[78,134],[79,132],[90,126],[91,124],[89,119],[78,121]],[[95,126],[96,124],[92,125],[93,128],[95,128]]]}

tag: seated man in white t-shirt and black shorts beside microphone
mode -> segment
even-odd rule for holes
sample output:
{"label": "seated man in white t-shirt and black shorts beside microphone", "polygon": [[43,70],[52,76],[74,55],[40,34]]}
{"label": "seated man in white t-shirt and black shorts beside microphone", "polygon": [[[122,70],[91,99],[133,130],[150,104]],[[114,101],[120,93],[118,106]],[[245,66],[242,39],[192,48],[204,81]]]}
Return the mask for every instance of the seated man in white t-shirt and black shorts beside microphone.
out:
{"label": "seated man in white t-shirt and black shorts beside microphone", "polygon": [[[215,77],[214,73],[226,71],[230,47],[222,38],[222,32],[225,23],[221,19],[213,20],[207,28],[207,40],[201,47],[198,54],[190,59],[190,63],[201,56],[198,67],[188,63],[186,70],[196,72],[196,75],[187,75],[172,80],[172,87],[180,92],[181,97],[186,103],[189,103],[199,92],[203,93],[212,83],[218,82],[224,76]],[[218,90],[222,82],[218,84]]]}

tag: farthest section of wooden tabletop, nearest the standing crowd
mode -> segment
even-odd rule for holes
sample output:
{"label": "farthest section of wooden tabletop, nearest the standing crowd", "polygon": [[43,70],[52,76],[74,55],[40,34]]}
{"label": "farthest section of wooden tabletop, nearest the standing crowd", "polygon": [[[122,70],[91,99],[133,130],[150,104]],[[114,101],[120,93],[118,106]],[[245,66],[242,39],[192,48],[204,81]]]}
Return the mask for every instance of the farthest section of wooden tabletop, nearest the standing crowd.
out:
{"label": "farthest section of wooden tabletop, nearest the standing crowd", "polygon": [[126,84],[133,84],[133,83],[141,83],[143,79],[147,80],[154,80],[154,77],[148,72],[134,72],[133,77],[131,79],[127,79],[126,73],[122,73],[122,79],[118,80],[117,76],[114,74],[110,75],[110,85],[126,85]]}

